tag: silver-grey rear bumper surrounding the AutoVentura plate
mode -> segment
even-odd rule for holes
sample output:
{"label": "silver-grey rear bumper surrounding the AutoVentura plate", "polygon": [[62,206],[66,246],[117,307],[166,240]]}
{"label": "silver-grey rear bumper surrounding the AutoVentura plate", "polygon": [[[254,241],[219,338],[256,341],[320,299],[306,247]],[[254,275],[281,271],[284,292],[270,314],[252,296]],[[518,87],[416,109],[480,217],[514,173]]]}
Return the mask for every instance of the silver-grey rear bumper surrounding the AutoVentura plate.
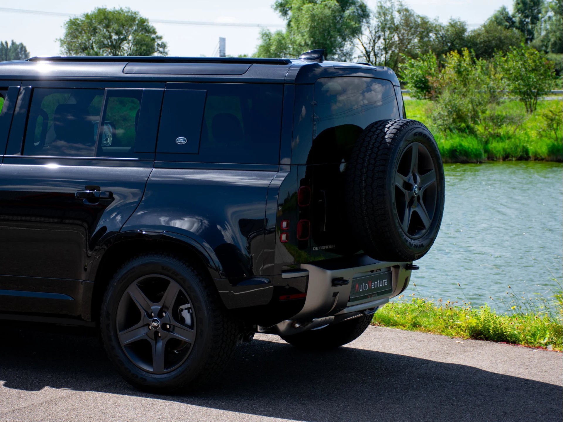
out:
{"label": "silver-grey rear bumper surrounding the AutoVentura plate", "polygon": [[[340,268],[342,264],[353,264]],[[367,256],[355,256],[346,263],[330,263],[320,261],[315,264],[301,264],[300,270],[286,274],[305,275],[308,272],[309,282],[307,296],[303,308],[288,321],[283,321],[268,332],[278,334],[295,334],[306,329],[319,328],[328,323],[340,322],[357,316],[366,310],[377,309],[388,303],[391,297],[399,295],[408,286],[412,270],[405,267],[410,263],[392,263],[377,261]],[[350,301],[351,281],[355,278],[369,276],[377,272],[391,272],[392,291],[379,296]],[[342,279],[333,283],[334,279]],[[347,283],[346,283],[347,281]],[[346,284],[344,284],[346,283]]]}

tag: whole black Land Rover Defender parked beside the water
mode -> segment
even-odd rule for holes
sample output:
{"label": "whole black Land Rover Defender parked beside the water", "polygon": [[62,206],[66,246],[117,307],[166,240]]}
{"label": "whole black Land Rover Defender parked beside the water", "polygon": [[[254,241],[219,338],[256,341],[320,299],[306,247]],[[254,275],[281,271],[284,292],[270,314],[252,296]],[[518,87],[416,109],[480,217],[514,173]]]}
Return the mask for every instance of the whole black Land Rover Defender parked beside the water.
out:
{"label": "whole black Land Rover Defender parked beside the water", "polygon": [[358,337],[434,242],[444,174],[391,69],[322,55],[0,64],[0,318],[99,327],[160,391],[254,332]]}

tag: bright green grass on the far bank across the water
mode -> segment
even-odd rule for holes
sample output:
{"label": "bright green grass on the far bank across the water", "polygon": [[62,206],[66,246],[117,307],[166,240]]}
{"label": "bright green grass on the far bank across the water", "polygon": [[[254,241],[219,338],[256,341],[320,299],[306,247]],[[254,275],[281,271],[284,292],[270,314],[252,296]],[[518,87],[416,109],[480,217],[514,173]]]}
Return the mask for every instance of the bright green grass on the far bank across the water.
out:
{"label": "bright green grass on the far bank across the water", "polygon": [[431,119],[433,106],[428,100],[405,100],[406,116],[430,128],[444,162],[563,158],[561,127],[557,133],[546,130],[544,118],[548,109],[561,108],[560,100],[538,101],[531,115],[519,101],[502,101],[483,116],[472,134],[440,131]]}

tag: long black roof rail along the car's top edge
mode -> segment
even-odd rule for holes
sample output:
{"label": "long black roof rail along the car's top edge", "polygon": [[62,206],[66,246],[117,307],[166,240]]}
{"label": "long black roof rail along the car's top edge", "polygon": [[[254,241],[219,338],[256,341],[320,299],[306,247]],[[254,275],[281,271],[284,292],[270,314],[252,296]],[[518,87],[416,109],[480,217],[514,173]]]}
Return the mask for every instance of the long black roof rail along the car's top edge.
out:
{"label": "long black roof rail along the car's top edge", "polygon": [[27,61],[105,61],[142,63],[248,63],[291,64],[290,59],[262,59],[254,57],[176,57],[176,56],[51,56],[30,57]]}

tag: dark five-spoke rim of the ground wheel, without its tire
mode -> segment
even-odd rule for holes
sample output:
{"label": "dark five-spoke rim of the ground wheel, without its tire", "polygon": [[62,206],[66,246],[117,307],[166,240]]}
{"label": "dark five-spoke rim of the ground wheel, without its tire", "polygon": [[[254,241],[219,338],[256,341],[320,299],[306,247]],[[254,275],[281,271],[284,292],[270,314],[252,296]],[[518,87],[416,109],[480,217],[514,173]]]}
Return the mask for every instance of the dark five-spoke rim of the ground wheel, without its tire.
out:
{"label": "dark five-spoke rim of the ground wheel, without its tire", "polygon": [[131,283],[119,301],[116,324],[127,357],[152,374],[175,370],[193,350],[196,321],[190,298],[161,274]]}

